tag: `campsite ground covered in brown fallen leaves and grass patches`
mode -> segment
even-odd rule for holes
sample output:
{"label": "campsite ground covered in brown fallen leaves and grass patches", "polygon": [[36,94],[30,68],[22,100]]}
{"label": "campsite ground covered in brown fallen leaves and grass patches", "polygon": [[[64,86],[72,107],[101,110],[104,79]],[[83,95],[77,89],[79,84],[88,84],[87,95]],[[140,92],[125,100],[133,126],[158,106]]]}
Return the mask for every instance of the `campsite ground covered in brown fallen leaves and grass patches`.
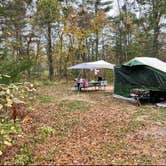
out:
{"label": "campsite ground covered in brown fallen leaves and grass patches", "polygon": [[42,85],[31,102],[23,138],[0,164],[166,164],[166,110],[114,99],[112,88],[77,93]]}

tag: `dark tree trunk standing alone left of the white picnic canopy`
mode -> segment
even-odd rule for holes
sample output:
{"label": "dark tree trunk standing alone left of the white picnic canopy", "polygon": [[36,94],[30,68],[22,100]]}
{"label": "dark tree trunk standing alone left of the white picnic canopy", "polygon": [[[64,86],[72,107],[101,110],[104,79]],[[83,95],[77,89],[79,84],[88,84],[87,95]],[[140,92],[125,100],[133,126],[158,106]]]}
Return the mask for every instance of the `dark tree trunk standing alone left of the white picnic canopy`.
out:
{"label": "dark tree trunk standing alone left of the white picnic canopy", "polygon": [[53,67],[53,59],[52,59],[52,42],[51,42],[51,24],[48,24],[47,27],[47,58],[48,58],[48,69],[49,69],[49,80],[53,80],[54,76],[54,67]]}

